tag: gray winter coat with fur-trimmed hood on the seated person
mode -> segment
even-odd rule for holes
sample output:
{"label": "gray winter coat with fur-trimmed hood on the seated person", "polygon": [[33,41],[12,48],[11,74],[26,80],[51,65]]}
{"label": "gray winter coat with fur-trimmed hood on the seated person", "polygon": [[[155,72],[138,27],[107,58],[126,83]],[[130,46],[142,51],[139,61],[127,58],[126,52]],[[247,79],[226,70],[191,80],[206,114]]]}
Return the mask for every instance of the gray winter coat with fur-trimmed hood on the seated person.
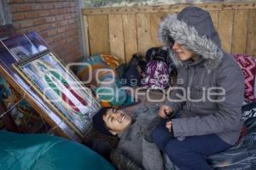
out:
{"label": "gray winter coat with fur-trimmed hood on the seated person", "polygon": [[[177,86],[185,88],[174,90],[170,99],[177,100],[166,104],[174,111],[181,110],[182,118],[172,119],[174,136],[184,139],[217,133],[225,142],[235,144],[242,124],[244,78],[236,61],[222,50],[210,14],[201,8],[185,8],[163,20],[159,33],[166,45],[170,46],[173,38],[201,55],[195,62],[183,62],[171,53],[178,67]],[[181,96],[185,97],[181,100]]]}

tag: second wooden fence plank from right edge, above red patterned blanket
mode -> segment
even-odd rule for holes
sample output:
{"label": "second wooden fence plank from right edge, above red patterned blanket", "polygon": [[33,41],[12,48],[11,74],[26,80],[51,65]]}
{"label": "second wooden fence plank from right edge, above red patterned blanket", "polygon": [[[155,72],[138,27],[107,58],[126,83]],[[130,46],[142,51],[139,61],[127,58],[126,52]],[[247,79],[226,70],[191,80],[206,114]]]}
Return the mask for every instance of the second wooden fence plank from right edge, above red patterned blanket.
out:
{"label": "second wooden fence plank from right edge, above red patterned blanket", "polygon": [[247,45],[248,10],[235,10],[231,54],[245,54]]}

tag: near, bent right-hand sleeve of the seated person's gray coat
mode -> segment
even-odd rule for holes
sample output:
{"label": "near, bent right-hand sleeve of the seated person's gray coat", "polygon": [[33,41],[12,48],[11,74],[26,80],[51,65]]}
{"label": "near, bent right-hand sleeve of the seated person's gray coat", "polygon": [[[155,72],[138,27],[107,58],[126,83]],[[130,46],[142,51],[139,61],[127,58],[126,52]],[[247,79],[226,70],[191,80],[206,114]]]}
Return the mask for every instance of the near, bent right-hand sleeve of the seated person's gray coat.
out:
{"label": "near, bent right-hand sleeve of the seated person's gray coat", "polygon": [[218,87],[225,90],[224,101],[218,102],[218,111],[207,116],[172,119],[175,137],[221,133],[238,130],[241,127],[241,105],[244,94],[241,69],[234,65],[222,69],[217,75],[217,83]]}

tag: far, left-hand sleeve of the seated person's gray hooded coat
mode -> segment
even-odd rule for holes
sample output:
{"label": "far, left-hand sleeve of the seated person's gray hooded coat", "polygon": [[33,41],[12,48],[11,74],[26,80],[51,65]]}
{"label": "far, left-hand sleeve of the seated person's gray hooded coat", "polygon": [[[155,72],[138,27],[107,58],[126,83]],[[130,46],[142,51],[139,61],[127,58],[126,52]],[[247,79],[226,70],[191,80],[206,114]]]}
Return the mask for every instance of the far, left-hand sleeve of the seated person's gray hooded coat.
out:
{"label": "far, left-hand sleeve of the seated person's gray hooded coat", "polygon": [[186,82],[182,82],[183,80],[185,80],[185,78],[183,78],[183,75],[181,75],[183,68],[179,67],[177,70],[177,85],[176,87],[171,88],[171,95],[168,99],[168,101],[166,102],[166,105],[169,105],[172,110],[174,112],[181,110],[182,106],[185,102],[185,93],[183,86]]}

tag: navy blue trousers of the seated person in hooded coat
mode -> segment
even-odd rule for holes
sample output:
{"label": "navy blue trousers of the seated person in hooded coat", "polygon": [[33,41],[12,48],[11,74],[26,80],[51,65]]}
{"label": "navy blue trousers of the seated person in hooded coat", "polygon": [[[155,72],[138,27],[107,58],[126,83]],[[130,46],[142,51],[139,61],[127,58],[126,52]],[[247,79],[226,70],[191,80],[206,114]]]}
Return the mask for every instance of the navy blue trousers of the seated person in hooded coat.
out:
{"label": "navy blue trousers of the seated person in hooded coat", "polygon": [[212,169],[205,161],[205,156],[211,156],[231,146],[216,134],[191,136],[182,141],[172,138],[166,129],[166,121],[160,122],[154,129],[153,139],[160,150],[181,170]]}

